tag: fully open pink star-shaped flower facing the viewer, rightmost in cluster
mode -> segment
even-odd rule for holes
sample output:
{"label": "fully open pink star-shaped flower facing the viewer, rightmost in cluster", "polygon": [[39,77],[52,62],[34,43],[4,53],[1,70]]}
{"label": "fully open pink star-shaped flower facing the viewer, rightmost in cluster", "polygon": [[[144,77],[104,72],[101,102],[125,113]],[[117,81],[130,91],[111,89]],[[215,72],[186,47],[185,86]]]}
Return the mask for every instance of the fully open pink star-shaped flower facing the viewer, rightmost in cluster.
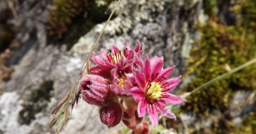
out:
{"label": "fully open pink star-shaped flower facing the viewer, rightmost in cluster", "polygon": [[[163,114],[162,108],[165,104],[175,105],[185,101],[169,93],[179,84],[181,78],[168,79],[174,68],[175,66],[163,69],[163,57],[153,57],[149,60],[147,56],[142,70],[134,69],[133,71],[138,86],[131,88],[131,94],[139,101],[138,114],[145,116],[148,111],[154,127],[158,123],[158,112]],[[175,118],[174,114],[173,117]]]}

